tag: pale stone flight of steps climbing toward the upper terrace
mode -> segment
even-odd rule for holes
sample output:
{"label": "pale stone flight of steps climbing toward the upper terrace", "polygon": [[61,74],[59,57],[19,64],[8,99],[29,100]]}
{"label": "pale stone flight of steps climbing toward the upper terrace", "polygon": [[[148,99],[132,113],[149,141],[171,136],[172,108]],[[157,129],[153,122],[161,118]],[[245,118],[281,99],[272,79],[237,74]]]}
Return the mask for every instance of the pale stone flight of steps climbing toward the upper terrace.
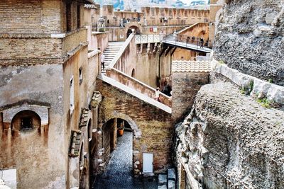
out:
{"label": "pale stone flight of steps climbing toward the upper terrace", "polygon": [[109,46],[104,50],[104,70],[102,69],[102,74],[106,74],[106,69],[109,67],[109,64],[114,59],[116,54],[121,50],[121,47],[124,45],[124,42],[109,42]]}

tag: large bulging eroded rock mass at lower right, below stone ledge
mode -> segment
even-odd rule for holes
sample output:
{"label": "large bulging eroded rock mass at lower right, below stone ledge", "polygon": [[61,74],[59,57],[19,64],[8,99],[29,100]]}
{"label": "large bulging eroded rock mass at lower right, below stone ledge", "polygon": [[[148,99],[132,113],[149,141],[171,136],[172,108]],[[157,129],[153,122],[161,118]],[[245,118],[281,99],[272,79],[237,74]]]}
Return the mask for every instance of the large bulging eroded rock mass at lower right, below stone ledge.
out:
{"label": "large bulging eroded rock mass at lower right, below stone ledge", "polygon": [[176,135],[178,179],[182,164],[202,188],[284,188],[284,112],[228,81],[202,86]]}

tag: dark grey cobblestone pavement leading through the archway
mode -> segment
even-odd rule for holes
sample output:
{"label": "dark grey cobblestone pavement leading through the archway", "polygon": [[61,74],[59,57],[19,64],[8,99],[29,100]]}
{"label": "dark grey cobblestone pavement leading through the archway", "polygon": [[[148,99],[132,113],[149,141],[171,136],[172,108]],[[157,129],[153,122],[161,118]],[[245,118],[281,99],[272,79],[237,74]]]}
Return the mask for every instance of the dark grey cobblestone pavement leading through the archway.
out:
{"label": "dark grey cobblestone pavement leading through the archway", "polygon": [[117,138],[116,149],[111,154],[106,171],[97,176],[95,189],[156,189],[157,178],[134,178],[132,171],[132,132],[124,131]]}

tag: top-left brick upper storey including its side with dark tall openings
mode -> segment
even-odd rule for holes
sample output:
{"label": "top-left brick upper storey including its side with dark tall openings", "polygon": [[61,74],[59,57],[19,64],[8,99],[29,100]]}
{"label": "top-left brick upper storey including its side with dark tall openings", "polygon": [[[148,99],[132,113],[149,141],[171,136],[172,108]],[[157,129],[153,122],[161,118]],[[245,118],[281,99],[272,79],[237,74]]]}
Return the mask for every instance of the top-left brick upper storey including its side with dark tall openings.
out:
{"label": "top-left brick upper storey including its side with dark tall openings", "polygon": [[68,30],[84,25],[84,5],[78,1],[66,6],[58,0],[1,0],[0,23],[0,33],[64,33],[67,24]]}

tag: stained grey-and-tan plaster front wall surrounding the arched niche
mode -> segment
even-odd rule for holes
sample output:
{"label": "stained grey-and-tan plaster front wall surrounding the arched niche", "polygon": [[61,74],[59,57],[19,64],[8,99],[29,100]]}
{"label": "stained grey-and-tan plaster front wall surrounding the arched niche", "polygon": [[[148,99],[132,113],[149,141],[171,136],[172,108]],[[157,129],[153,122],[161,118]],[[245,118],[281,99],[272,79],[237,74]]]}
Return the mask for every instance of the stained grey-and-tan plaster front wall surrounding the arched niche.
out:
{"label": "stained grey-and-tan plaster front wall surrounding the arched niche", "polygon": [[9,125],[0,125],[0,168],[17,169],[18,188],[31,183],[34,188],[65,188],[62,66],[1,67],[0,76],[1,107],[25,100],[50,104],[49,125],[40,132],[13,134]]}

